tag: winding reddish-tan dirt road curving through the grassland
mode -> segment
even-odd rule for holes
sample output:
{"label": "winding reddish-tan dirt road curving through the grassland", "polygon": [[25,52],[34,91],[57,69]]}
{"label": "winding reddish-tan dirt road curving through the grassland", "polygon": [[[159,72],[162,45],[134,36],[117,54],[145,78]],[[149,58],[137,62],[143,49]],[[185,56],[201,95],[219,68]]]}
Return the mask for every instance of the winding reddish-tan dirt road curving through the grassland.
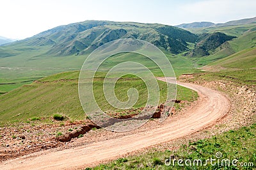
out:
{"label": "winding reddish-tan dirt road curving through the grassland", "polygon": [[[165,80],[164,78],[158,79]],[[168,82],[172,82],[172,80],[172,78],[167,79]],[[183,82],[178,82],[178,84],[197,91],[199,95],[199,104],[182,117],[177,116],[168,123],[162,123],[160,127],[124,135],[117,139],[104,140],[60,151],[40,151],[15,158],[2,162],[0,169],[80,169],[192,134],[213,125],[228,112],[229,101],[217,91],[195,84]]]}

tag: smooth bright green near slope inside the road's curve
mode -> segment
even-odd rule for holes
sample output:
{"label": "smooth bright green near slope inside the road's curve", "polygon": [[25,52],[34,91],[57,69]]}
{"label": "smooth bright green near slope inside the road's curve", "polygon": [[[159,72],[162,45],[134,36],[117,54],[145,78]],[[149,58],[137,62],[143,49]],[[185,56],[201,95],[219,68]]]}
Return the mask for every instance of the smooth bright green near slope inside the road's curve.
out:
{"label": "smooth bright green near slope inside the road's curve", "polygon": [[[85,114],[79,102],[77,92],[77,77],[79,72],[58,73],[49,77],[40,79],[44,82],[33,82],[24,85],[9,93],[0,96],[0,120],[6,121],[27,121],[33,117],[49,118],[56,112],[68,116],[71,120],[81,120]],[[166,88],[164,82],[159,81],[161,90],[161,102],[163,102]],[[145,84],[138,79],[124,79],[116,84],[116,94],[120,100],[127,97],[127,89],[134,87],[140,94],[139,100],[134,107],[145,105],[147,98],[147,89]],[[102,80],[95,83],[95,98],[104,110],[113,109],[106,104],[102,93]],[[178,86],[178,100],[195,100],[197,94],[195,91]]]}

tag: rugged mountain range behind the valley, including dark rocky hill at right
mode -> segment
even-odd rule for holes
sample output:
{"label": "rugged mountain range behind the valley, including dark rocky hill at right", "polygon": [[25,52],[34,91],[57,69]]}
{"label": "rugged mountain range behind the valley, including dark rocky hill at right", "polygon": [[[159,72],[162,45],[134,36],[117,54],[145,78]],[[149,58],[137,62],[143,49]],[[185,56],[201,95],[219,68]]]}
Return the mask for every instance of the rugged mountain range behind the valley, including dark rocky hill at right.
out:
{"label": "rugged mountain range behind the valley, including dark rocky hill at right", "polygon": [[[4,49],[0,49],[0,58],[16,56],[20,53],[19,49],[22,52],[44,49],[44,52],[36,56],[83,55],[104,43],[120,38],[137,38],[172,54],[189,52],[188,56],[200,57],[211,54],[211,51],[235,36],[227,36],[224,33],[195,35],[184,29],[163,24],[86,20],[54,27],[31,38],[4,45]],[[195,49],[191,49],[191,44],[195,44]],[[15,50],[10,52],[6,49]]]}

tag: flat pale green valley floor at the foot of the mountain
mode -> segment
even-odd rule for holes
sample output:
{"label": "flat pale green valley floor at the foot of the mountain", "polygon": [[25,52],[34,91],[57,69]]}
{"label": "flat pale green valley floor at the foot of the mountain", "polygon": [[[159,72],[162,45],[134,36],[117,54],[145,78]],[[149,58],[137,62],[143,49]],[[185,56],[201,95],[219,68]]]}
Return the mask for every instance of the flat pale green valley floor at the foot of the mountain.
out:
{"label": "flat pale green valley floor at the foot of the mountain", "polygon": [[[191,59],[180,55],[177,56],[170,54],[165,50],[163,51],[170,60],[170,63],[172,64],[177,76],[181,75],[182,73],[198,72],[198,70],[194,68],[193,61]],[[36,54],[37,53],[35,52],[33,55]],[[65,72],[68,70],[80,70],[87,55],[88,54],[84,54],[83,56],[62,57],[36,56],[31,58],[31,56],[28,56],[26,53],[19,54],[18,56],[15,56],[15,62],[12,62],[9,68],[0,68],[0,91],[11,91],[12,89],[18,88],[24,84],[22,81],[34,81],[54,73]],[[8,65],[8,63],[10,63],[10,58],[2,58],[0,61],[1,63],[3,62],[3,65]],[[145,59],[145,57],[140,58],[138,55],[136,56],[131,54],[125,54],[124,56],[119,56],[118,58],[108,59],[108,65],[104,67],[109,68],[124,61],[139,62],[150,68],[155,75],[161,75],[159,69],[155,68],[156,65],[152,61],[149,61],[147,58]],[[56,65],[56,63],[58,64]],[[13,85],[5,83],[15,84]]]}

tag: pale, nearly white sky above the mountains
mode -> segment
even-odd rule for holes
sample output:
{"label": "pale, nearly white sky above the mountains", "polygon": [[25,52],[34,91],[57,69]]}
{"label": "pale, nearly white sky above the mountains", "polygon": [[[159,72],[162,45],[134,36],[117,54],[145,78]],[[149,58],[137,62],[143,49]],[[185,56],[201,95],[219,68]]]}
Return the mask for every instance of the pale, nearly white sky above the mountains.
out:
{"label": "pale, nearly white sky above the mountains", "polygon": [[177,24],[256,17],[255,0],[0,0],[0,36],[28,38],[84,20]]}

